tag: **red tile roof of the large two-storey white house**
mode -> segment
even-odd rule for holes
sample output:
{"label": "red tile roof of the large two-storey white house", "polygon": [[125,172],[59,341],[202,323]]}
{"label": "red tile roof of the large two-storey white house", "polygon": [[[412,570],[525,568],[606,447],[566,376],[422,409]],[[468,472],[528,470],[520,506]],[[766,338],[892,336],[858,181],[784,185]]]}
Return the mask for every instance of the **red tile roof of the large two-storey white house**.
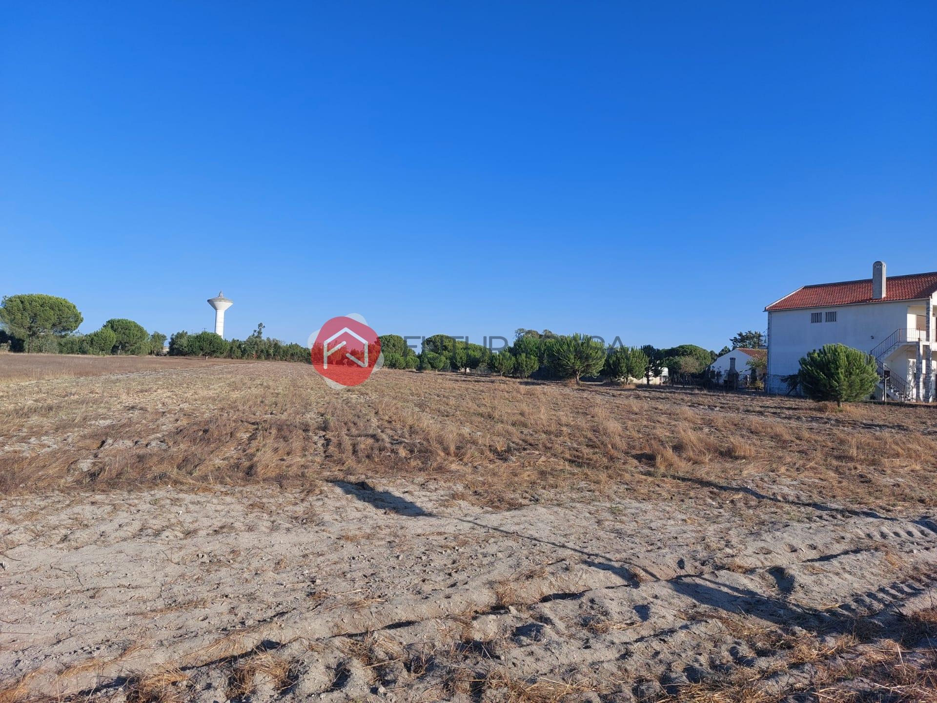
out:
{"label": "red tile roof of the large two-storey white house", "polygon": [[889,276],[885,279],[885,298],[872,299],[872,279],[818,283],[798,288],[765,309],[791,310],[796,307],[848,306],[855,303],[890,303],[896,300],[929,298],[937,291],[937,271],[930,274]]}

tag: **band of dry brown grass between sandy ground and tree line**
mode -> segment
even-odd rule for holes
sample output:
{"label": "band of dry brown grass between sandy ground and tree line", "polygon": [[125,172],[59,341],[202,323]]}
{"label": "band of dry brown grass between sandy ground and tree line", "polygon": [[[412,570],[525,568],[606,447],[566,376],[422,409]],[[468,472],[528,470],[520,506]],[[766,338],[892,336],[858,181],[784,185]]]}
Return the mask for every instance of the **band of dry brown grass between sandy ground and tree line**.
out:
{"label": "band of dry brown grass between sandy ground and tree line", "polygon": [[[388,370],[339,393],[301,364],[193,364],[0,385],[0,490],[386,476],[446,480],[455,498],[500,507],[576,486],[670,499],[743,484],[795,505],[937,505],[930,408]],[[788,491],[773,498],[779,482]]]}

